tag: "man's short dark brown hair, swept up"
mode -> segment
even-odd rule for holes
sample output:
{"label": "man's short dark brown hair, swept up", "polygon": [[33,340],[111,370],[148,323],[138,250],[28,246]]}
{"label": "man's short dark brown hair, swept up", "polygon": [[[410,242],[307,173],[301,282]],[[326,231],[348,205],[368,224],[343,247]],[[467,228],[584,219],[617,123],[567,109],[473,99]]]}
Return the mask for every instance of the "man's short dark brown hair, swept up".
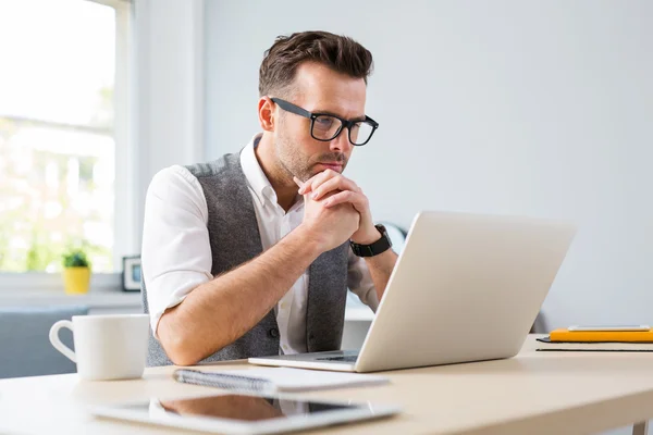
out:
{"label": "man's short dark brown hair, swept up", "polygon": [[259,95],[282,95],[291,87],[303,62],[317,62],[353,78],[372,72],[372,53],[354,39],[329,32],[303,32],[279,36],[266,51],[259,70]]}

